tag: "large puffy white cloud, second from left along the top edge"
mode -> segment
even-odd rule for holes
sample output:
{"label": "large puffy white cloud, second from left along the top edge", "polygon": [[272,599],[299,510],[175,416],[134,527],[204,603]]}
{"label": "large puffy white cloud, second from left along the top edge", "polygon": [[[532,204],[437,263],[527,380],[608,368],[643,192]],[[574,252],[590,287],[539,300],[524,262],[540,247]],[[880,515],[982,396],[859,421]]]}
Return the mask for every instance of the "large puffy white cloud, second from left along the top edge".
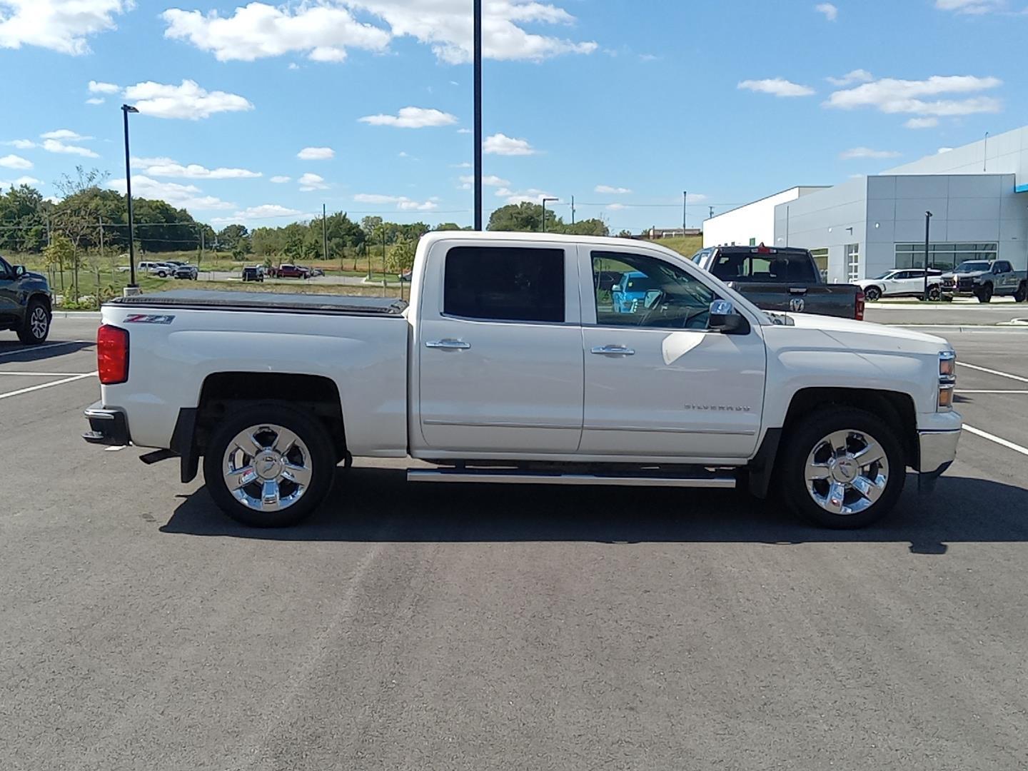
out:
{"label": "large puffy white cloud, second from left along the top edge", "polygon": [[160,16],[168,24],[164,37],[187,40],[212,51],[219,62],[253,62],[290,52],[306,52],[316,62],[341,62],[347,47],[381,51],[389,46],[387,30],[358,22],[340,5],[300,3],[294,9],[251,2],[227,17],[179,8]]}

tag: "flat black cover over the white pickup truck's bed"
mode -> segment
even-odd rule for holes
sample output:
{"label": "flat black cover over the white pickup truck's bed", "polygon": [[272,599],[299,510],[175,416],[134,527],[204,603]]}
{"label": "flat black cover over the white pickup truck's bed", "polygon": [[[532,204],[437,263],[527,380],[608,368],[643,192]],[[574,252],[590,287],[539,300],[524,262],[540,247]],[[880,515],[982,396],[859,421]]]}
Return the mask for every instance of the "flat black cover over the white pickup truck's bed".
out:
{"label": "flat black cover over the white pickup truck's bed", "polygon": [[400,316],[407,303],[395,297],[359,297],[286,292],[232,292],[174,289],[154,294],[118,297],[112,305],[195,310],[249,310],[269,314],[332,314],[339,316]]}

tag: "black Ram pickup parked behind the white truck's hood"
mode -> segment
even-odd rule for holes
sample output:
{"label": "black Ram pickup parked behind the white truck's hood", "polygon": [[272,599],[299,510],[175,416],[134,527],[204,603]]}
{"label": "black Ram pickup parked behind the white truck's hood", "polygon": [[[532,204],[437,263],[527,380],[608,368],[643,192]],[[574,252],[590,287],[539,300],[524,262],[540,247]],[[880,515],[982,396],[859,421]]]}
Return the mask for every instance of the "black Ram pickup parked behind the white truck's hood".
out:
{"label": "black Ram pickup parked behind the white truck's hood", "polygon": [[825,284],[806,249],[708,247],[690,259],[764,310],[864,321],[864,290]]}

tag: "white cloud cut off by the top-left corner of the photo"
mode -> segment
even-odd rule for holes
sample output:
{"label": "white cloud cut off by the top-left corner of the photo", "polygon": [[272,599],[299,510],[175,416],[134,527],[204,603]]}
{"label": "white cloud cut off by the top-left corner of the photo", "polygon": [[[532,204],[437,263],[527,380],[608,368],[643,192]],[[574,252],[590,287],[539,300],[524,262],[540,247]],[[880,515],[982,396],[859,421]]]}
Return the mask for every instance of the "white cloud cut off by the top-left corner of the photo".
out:
{"label": "white cloud cut off by the top-left corner of the photo", "polygon": [[134,0],[2,0],[0,48],[35,45],[60,53],[89,52],[86,38],[116,28],[114,16]]}

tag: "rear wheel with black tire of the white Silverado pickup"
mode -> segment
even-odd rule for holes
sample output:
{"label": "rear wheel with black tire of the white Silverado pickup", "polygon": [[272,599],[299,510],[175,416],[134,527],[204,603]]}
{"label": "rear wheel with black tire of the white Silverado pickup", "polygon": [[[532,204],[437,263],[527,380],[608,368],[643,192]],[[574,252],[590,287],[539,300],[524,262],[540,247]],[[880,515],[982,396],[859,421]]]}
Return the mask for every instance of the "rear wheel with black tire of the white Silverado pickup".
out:
{"label": "rear wheel with black tire of the white Silverado pickup", "polygon": [[314,512],[335,477],[335,448],[322,424],[277,402],[230,414],[211,437],[204,479],[229,517],[286,527]]}

